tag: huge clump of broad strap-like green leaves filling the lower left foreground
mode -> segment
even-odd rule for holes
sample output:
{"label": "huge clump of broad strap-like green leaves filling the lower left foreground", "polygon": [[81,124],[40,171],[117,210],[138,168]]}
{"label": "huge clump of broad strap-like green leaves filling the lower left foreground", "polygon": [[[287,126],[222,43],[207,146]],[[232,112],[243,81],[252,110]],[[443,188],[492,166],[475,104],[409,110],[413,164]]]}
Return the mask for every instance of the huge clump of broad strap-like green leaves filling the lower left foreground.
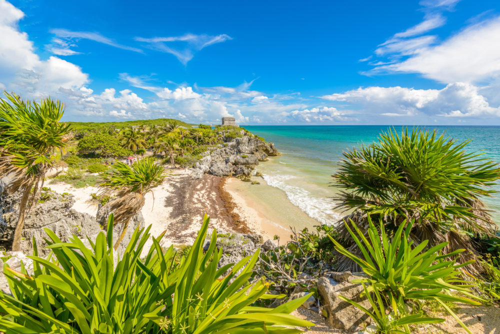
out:
{"label": "huge clump of broad strap-like green leaves filling the lower left foreground", "polygon": [[[143,261],[149,227],[136,229],[121,258],[112,250],[113,216],[107,236],[89,240],[78,237],[62,242],[45,229],[47,259],[37,256],[33,242],[33,273],[5,265],[12,295],[0,291],[0,330],[13,333],[297,333],[284,326],[311,326],[311,322],[288,313],[308,297],[274,309],[255,307],[268,284],[248,283],[258,256],[217,269],[222,251],[215,248],[216,231],[203,251],[209,219],[205,216],[192,247],[176,261],[173,246],[165,252],[159,245],[163,234],[151,238]],[[34,240],[33,240],[34,241]],[[224,274],[228,271],[228,274]],[[238,272],[236,275],[236,272]]]}

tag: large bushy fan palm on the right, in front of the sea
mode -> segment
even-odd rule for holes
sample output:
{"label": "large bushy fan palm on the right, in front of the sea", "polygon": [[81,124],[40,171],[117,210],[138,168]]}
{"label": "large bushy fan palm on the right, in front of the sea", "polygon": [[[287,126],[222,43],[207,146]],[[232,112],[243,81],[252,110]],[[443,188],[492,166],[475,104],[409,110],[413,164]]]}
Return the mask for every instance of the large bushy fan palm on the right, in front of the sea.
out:
{"label": "large bushy fan palm on the right, in front of the sea", "polygon": [[[382,219],[395,230],[414,220],[411,238],[416,244],[449,242],[446,252],[468,251],[459,260],[475,257],[470,235],[490,234],[496,229],[481,198],[491,196],[487,187],[500,178],[498,164],[481,158],[482,152],[467,153],[470,140],[457,142],[435,131],[403,129],[382,133],[378,142],[343,153],[340,170],[333,179],[343,188],[338,207],[351,210],[351,219],[363,231],[368,215]],[[340,236],[348,231],[339,226]],[[356,245],[351,243],[351,251]],[[350,264],[342,262],[342,268]]]}

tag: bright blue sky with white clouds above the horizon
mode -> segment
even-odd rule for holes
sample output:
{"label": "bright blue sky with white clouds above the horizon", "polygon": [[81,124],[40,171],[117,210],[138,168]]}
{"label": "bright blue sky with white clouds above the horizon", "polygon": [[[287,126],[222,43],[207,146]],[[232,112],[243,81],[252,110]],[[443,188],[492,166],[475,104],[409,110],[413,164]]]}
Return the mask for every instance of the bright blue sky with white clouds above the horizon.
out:
{"label": "bright blue sky with white clouds above the horizon", "polygon": [[500,124],[497,1],[0,0],[0,88],[66,120]]}

